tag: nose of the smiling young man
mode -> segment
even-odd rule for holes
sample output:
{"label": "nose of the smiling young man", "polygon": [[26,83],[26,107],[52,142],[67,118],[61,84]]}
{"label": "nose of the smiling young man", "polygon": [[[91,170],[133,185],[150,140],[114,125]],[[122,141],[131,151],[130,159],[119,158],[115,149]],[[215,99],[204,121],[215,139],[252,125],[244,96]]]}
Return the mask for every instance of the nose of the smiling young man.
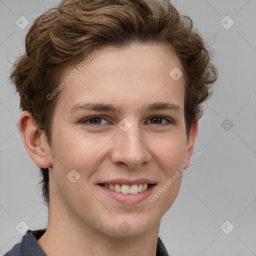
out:
{"label": "nose of the smiling young man", "polygon": [[126,131],[118,128],[112,141],[111,161],[119,166],[125,165],[129,169],[138,169],[151,158],[147,144],[148,141],[138,125],[132,123]]}

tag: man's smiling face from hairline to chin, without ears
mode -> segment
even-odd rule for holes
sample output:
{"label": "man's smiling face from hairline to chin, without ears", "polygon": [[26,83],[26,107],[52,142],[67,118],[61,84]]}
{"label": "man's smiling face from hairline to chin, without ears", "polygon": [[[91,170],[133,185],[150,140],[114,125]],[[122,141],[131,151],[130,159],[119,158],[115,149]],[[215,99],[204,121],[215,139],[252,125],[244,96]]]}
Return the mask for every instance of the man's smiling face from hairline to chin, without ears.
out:
{"label": "man's smiling face from hairline to chin, without ears", "polygon": [[[162,44],[134,44],[100,48],[81,70],[77,64],[63,72],[61,81],[78,71],[59,92],[53,114],[49,178],[51,196],[58,196],[49,207],[55,203],[107,235],[141,235],[175,200],[182,172],[166,182],[191,155],[184,79],[169,75],[181,63]],[[147,186],[137,188],[140,183],[151,185],[136,193]],[[120,184],[114,189],[123,193],[109,184]],[[122,225],[130,230],[122,232]]]}

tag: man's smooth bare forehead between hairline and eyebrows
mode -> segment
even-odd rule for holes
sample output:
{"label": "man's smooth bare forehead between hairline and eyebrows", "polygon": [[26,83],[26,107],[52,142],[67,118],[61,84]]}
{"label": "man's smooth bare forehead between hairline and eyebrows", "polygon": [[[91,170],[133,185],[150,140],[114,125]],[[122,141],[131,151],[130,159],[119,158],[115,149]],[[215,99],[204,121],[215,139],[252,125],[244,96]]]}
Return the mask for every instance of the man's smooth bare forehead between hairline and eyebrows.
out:
{"label": "man's smooth bare forehead between hairline and eyebrows", "polygon": [[124,107],[168,101],[183,106],[184,79],[174,80],[169,74],[173,68],[183,72],[179,58],[163,44],[105,46],[63,70],[60,82],[74,70],[75,75],[61,90],[59,101],[66,102],[68,110],[82,101],[114,100]]}

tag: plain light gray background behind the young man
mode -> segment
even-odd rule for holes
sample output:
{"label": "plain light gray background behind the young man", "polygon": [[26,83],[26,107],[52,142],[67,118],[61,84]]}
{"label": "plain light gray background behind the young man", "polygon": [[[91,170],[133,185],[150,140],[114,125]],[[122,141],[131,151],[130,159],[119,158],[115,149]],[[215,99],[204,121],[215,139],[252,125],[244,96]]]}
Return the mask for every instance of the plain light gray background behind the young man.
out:
{"label": "plain light gray background behind the young man", "polygon": [[[22,234],[15,226],[21,220],[32,230],[47,225],[38,167],[16,127],[19,98],[7,76],[8,61],[24,52],[24,35],[35,17],[58,2],[0,0],[0,256],[20,242]],[[172,2],[211,44],[219,77],[199,121],[194,153],[202,154],[185,170],[159,236],[170,256],[256,255],[256,1]],[[15,24],[21,15],[29,21],[24,29]],[[229,29],[220,22],[226,15],[234,21]],[[226,118],[228,130],[226,123],[221,126]],[[229,234],[220,228],[226,220],[234,226]]]}

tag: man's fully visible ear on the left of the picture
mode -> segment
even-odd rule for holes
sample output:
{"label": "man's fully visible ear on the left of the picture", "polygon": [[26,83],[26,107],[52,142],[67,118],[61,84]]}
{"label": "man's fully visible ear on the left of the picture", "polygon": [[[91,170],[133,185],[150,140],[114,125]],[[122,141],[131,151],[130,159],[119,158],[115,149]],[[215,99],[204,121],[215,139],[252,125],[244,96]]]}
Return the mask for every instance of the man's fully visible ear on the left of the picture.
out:
{"label": "man's fully visible ear on the left of the picture", "polygon": [[26,151],[35,164],[41,168],[50,167],[50,148],[45,133],[39,132],[29,111],[20,114],[18,126]]}

